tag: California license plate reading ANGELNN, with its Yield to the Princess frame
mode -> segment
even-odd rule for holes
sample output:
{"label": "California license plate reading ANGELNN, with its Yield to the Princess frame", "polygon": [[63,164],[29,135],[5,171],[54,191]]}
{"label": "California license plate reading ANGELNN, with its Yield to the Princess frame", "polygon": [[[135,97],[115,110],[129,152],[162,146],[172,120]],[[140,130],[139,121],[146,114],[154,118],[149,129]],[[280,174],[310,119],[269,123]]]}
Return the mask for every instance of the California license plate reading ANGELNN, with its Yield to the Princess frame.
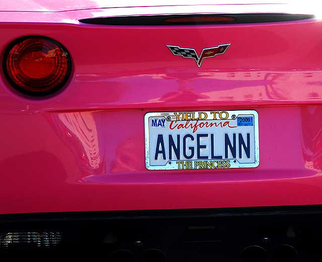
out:
{"label": "California license plate reading ANGELNN, with its Yield to the Princess frame", "polygon": [[151,112],[144,116],[144,128],[149,170],[259,165],[255,110]]}

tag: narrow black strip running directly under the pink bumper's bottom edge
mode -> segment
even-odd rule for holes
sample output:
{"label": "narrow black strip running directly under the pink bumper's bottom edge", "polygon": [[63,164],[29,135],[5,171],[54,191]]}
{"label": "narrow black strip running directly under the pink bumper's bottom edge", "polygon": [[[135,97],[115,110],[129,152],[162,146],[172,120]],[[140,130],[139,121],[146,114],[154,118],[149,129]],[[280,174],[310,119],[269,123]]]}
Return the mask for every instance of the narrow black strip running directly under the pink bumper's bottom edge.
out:
{"label": "narrow black strip running directly under the pink bumper's bottom edge", "polygon": [[322,215],[322,205],[255,208],[178,209],[138,211],[59,212],[0,215],[0,223],[118,221],[138,219],[228,218],[287,215]]}

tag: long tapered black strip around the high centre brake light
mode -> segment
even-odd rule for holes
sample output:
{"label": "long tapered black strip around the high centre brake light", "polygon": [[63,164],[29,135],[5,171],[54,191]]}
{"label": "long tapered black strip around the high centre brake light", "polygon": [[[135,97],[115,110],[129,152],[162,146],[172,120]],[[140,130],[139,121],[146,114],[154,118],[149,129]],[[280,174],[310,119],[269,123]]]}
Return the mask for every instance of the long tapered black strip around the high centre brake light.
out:
{"label": "long tapered black strip around the high centre brake light", "polygon": [[[189,22],[189,23],[167,23],[165,20],[172,18],[198,18],[198,17],[233,17],[235,21],[228,22]],[[123,26],[157,26],[157,25],[213,25],[213,24],[247,24],[247,23],[269,23],[285,22],[304,19],[312,19],[314,15],[294,14],[216,14],[216,15],[157,15],[157,16],[122,16],[122,17],[98,17],[81,19],[79,22],[96,25],[123,25]]]}

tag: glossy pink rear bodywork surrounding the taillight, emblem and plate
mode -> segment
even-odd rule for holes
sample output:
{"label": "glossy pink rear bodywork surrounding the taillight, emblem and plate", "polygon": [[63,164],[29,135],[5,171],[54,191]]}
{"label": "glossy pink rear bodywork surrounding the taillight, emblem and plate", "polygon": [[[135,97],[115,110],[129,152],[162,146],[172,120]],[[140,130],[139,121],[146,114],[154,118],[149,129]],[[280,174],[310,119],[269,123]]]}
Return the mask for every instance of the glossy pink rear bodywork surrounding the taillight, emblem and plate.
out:
{"label": "glossy pink rear bodywork surrounding the taillight, emblem and plate", "polygon": [[[322,204],[321,22],[3,23],[0,50],[26,32],[61,42],[73,73],[32,100],[1,71],[1,214]],[[166,47],[223,43],[201,68]],[[258,168],[146,170],[146,112],[214,109],[258,111]]]}

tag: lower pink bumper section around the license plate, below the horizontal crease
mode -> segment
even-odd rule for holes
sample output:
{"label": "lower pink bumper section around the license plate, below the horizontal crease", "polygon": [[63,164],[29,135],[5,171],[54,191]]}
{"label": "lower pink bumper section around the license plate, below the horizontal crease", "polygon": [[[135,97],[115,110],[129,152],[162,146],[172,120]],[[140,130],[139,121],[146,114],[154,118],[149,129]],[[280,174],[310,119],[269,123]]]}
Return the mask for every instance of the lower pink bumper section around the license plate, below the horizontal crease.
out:
{"label": "lower pink bumper section around the license plate, below the horizontal crease", "polygon": [[260,166],[215,171],[147,170],[143,119],[149,110],[2,115],[11,128],[1,137],[0,212],[321,204],[322,107],[248,109],[259,114]]}

